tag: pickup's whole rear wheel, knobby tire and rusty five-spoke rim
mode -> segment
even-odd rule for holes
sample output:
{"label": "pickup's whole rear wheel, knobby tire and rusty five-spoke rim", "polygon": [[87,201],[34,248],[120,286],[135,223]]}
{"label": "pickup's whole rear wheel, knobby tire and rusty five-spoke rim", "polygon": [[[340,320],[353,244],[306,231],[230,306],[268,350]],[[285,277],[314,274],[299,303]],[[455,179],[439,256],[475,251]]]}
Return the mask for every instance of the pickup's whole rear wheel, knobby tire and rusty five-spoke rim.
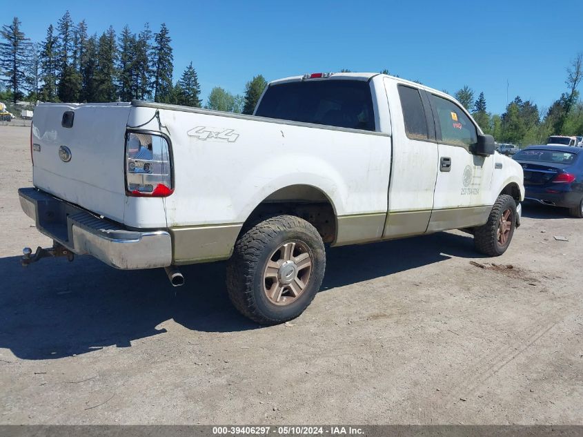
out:
{"label": "pickup's whole rear wheel, knobby tire and rusty five-spoke rim", "polygon": [[227,266],[235,308],[261,324],[300,315],[324,278],[326,252],[318,231],[293,215],[268,218],[239,237]]}

